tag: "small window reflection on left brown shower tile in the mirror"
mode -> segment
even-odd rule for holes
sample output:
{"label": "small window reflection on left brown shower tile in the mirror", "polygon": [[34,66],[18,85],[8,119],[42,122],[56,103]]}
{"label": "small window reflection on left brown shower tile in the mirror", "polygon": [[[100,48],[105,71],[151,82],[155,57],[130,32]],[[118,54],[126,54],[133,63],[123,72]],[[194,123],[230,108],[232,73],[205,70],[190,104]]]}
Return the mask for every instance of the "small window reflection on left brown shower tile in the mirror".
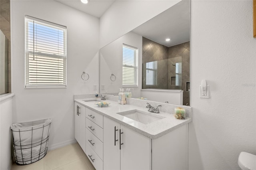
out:
{"label": "small window reflection on left brown shower tile in the mirror", "polygon": [[157,85],[157,61],[146,63],[146,85]]}

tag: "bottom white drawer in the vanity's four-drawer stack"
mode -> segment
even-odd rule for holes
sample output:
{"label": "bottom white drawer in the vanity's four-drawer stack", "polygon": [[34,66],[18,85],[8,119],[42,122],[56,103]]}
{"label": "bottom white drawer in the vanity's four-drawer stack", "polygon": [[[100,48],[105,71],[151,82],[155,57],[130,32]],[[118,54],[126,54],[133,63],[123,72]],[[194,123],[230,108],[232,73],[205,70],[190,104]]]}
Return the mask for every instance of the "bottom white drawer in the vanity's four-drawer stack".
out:
{"label": "bottom white drawer in the vanity's four-drawer stack", "polygon": [[86,142],[86,156],[92,162],[96,170],[103,170],[103,161],[100,157],[94,152],[91,146]]}

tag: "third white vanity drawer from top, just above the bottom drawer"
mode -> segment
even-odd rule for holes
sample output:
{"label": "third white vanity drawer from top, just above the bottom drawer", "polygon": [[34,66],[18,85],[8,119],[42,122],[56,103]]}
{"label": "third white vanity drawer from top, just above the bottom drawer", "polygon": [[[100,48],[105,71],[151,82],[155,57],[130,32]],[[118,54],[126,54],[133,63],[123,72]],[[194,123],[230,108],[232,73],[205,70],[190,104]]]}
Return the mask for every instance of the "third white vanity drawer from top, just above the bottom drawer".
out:
{"label": "third white vanity drawer from top, just above the bottom drawer", "polygon": [[103,143],[88,129],[86,129],[86,142],[91,146],[94,152],[98,154],[100,159],[103,160]]}

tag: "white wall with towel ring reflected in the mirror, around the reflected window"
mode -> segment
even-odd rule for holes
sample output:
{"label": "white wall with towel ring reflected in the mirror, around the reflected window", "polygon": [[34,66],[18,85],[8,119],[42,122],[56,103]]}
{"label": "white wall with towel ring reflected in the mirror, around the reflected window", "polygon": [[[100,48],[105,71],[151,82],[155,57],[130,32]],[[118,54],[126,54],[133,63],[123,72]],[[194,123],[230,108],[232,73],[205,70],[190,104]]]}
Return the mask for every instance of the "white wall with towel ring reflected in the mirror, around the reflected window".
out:
{"label": "white wall with towel ring reflected in the mirror, around the reflected window", "polygon": [[[100,49],[100,93],[119,93],[122,88],[122,53],[123,44],[138,48],[138,87],[131,89],[132,97],[140,97],[142,87],[142,36],[129,32],[114,42]],[[110,75],[116,76],[116,81],[110,80]],[[105,85],[105,90],[101,89]],[[126,91],[126,87],[124,88]]]}

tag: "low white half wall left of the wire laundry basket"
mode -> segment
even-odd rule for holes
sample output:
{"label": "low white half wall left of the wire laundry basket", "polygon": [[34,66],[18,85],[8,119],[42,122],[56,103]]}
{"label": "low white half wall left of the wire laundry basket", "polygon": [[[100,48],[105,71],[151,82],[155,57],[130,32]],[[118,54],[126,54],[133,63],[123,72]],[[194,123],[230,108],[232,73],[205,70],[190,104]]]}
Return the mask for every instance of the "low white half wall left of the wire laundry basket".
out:
{"label": "low white half wall left of the wire laundry basket", "polygon": [[[12,97],[0,99],[0,169],[10,170],[12,165]],[[5,96],[5,97],[2,97]],[[11,95],[9,95],[11,96]]]}

